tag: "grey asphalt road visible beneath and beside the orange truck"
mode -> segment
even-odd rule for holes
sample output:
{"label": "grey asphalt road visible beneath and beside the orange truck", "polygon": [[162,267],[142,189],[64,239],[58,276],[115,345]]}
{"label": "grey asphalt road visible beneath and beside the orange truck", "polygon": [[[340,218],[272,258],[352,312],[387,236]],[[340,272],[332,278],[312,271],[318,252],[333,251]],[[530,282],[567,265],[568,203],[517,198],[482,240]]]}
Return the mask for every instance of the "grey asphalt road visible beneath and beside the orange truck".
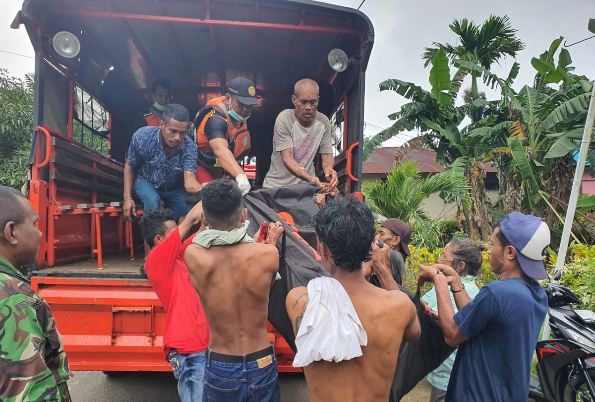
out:
{"label": "grey asphalt road visible beneath and beside the orange truck", "polygon": [[[308,388],[301,374],[279,376],[283,402],[307,402]],[[177,382],[171,373],[125,373],[107,376],[102,372],[75,372],[68,381],[74,402],[179,402]],[[430,385],[424,380],[403,401],[426,402]]]}

